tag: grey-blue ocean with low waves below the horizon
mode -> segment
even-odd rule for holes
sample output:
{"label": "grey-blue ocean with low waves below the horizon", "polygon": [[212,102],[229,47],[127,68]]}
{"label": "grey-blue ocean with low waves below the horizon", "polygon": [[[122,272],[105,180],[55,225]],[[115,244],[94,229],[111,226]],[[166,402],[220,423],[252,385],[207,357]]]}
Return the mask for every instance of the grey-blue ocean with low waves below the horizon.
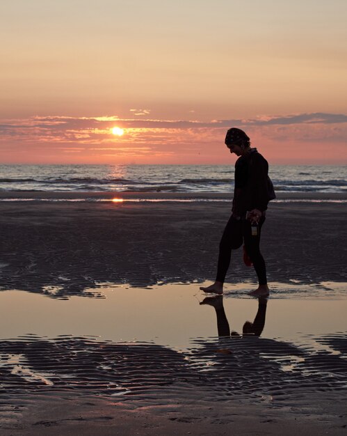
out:
{"label": "grey-blue ocean with low waves below the horizon", "polygon": [[[346,166],[272,165],[276,192],[347,192]],[[234,189],[232,165],[0,165],[0,191],[211,192]]]}

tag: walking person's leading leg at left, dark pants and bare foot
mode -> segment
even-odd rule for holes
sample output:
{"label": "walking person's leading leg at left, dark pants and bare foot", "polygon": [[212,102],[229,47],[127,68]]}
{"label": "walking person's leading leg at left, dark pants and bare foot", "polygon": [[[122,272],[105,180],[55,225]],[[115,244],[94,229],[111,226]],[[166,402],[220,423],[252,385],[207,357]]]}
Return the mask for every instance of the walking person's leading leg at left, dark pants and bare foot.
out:
{"label": "walking person's leading leg at left, dark pants and bare foot", "polygon": [[230,217],[225,226],[222,239],[219,244],[219,255],[217,265],[216,281],[207,287],[201,286],[200,289],[207,293],[223,293],[223,283],[230,265],[232,249],[241,247],[242,244],[242,226],[241,220]]}

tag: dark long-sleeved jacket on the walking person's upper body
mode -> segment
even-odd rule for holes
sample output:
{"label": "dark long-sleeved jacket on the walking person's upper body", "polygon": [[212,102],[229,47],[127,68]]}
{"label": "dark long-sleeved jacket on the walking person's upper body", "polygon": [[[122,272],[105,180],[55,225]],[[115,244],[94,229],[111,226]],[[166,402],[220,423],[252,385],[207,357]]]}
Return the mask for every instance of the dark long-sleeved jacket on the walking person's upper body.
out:
{"label": "dark long-sleeved jacket on the walking person's upper body", "polygon": [[275,193],[268,178],[268,162],[257,148],[252,148],[250,153],[236,160],[232,213],[236,217],[245,217],[248,210],[264,212],[273,198]]}

